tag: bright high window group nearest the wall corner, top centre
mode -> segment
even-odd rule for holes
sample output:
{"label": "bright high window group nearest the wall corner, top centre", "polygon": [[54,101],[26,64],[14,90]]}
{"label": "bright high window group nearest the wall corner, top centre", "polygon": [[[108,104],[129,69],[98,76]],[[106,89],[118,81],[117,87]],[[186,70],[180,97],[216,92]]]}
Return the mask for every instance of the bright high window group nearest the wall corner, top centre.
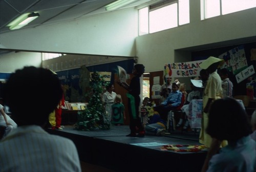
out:
{"label": "bright high window group nearest the wall corner, top centre", "polygon": [[189,0],[166,0],[139,10],[139,35],[189,23]]}

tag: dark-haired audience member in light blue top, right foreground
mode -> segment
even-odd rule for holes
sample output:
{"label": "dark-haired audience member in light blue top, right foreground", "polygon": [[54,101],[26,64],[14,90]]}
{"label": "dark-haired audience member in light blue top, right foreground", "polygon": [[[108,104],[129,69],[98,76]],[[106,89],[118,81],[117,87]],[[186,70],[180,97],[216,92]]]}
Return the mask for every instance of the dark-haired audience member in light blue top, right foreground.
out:
{"label": "dark-haired audience member in light blue top, right foreground", "polygon": [[[212,103],[206,132],[215,142],[202,171],[255,171],[255,141],[250,137],[247,114],[237,100],[225,97]],[[223,140],[228,145],[218,153]]]}

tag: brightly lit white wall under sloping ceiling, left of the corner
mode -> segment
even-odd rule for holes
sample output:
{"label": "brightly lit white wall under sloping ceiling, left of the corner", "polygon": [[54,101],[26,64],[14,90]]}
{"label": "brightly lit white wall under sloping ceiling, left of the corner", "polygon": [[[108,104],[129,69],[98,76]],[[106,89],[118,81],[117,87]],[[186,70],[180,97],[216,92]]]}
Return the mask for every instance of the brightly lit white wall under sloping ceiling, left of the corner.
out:
{"label": "brightly lit white wall under sloping ceiling, left of the corner", "polygon": [[125,9],[56,25],[1,34],[0,48],[135,56],[138,13]]}

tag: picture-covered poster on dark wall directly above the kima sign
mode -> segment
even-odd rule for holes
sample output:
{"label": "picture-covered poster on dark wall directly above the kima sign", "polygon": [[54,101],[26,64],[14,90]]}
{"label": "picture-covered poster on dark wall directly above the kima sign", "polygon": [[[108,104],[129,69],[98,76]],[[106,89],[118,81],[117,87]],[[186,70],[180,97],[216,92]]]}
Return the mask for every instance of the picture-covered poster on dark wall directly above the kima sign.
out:
{"label": "picture-covered poster on dark wall directly above the kima sign", "polygon": [[243,45],[221,54],[219,58],[225,61],[222,68],[228,68],[234,75],[240,73],[248,66]]}

